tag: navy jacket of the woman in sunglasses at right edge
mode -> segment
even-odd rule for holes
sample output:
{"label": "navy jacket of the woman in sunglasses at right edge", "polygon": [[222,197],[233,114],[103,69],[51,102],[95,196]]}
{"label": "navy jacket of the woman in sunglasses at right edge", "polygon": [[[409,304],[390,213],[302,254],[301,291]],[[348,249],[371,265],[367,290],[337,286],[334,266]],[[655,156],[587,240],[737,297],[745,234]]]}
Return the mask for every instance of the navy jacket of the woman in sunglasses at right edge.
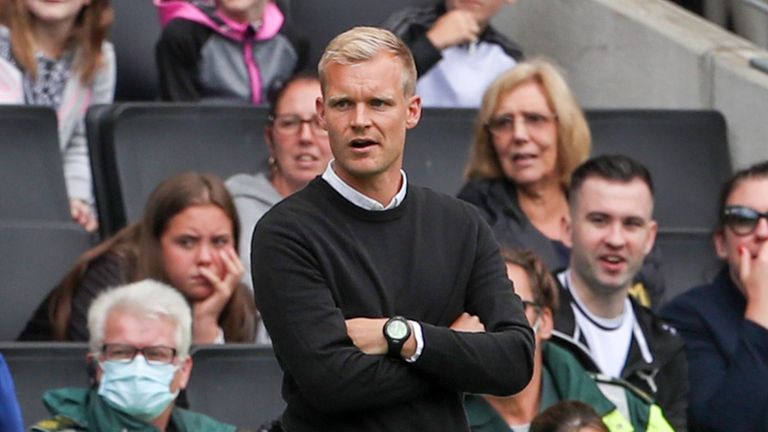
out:
{"label": "navy jacket of the woman in sunglasses at right edge", "polygon": [[[727,356],[710,329],[720,321],[682,298],[663,316],[686,342],[692,427],[702,430],[756,431],[768,425],[768,330],[743,319]],[[715,319],[713,323],[712,320]]]}

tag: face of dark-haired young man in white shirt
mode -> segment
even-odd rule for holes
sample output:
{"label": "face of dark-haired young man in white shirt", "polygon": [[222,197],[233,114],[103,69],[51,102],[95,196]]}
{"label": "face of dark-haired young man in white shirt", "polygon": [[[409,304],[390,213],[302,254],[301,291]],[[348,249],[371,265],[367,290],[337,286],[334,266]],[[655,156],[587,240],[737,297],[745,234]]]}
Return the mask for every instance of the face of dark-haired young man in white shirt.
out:
{"label": "face of dark-haired young man in white shirt", "polygon": [[590,177],[571,203],[571,269],[596,294],[628,290],[653,247],[653,197],[640,179]]}

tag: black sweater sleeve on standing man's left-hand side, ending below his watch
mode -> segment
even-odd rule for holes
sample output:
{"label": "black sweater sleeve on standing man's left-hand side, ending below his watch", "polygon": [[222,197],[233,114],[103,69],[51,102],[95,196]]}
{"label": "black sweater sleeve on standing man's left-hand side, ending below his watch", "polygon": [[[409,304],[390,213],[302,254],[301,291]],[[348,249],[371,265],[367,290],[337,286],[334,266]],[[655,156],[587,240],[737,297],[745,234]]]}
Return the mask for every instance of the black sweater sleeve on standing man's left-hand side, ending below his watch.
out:
{"label": "black sweater sleeve on standing man's left-hand side, ending below his watch", "polygon": [[[406,403],[428,392],[432,383],[406,362],[354,346],[321,271],[324,257],[312,253],[302,228],[273,211],[251,244],[256,303],[288,382],[327,414]],[[290,392],[286,398],[290,405]]]}

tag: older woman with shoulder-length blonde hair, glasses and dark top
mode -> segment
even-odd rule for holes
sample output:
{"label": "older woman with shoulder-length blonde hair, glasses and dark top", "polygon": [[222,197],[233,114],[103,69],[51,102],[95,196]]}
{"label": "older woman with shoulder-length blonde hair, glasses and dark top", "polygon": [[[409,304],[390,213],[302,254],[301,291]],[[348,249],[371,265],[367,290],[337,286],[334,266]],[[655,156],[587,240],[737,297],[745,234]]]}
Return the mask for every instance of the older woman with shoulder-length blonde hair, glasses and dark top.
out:
{"label": "older woman with shoulder-length blonde hair, glasses and dark top", "polygon": [[[565,190],[587,159],[589,127],[562,74],[542,59],[520,63],[485,91],[458,197],[480,209],[502,246],[534,251],[550,269],[568,265]],[[656,303],[664,283],[656,254],[633,291]]]}

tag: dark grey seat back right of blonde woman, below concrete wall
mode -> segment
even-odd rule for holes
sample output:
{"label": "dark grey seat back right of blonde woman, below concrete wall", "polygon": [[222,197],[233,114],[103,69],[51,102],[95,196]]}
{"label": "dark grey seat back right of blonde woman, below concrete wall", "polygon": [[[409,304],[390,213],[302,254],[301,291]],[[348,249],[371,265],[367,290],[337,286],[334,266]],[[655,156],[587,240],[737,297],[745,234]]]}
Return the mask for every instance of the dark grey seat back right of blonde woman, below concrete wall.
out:
{"label": "dark grey seat back right of blonde woman, below concrete wall", "polygon": [[731,175],[722,114],[701,110],[587,111],[593,153],[623,153],[651,172],[662,228],[709,230]]}

